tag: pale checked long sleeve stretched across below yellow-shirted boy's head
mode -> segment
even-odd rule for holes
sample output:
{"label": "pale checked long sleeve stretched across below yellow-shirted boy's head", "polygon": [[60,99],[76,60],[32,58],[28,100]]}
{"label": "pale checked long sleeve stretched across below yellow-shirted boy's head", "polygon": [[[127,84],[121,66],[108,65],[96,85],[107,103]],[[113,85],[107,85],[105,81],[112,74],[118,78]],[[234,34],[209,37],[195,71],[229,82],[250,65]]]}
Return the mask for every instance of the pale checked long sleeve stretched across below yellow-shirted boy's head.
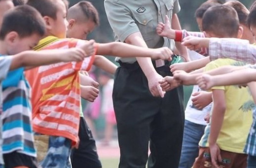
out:
{"label": "pale checked long sleeve stretched across below yellow-shirted boy's head", "polygon": [[210,60],[229,58],[255,64],[256,46],[249,44],[248,40],[211,38],[209,43],[209,55]]}

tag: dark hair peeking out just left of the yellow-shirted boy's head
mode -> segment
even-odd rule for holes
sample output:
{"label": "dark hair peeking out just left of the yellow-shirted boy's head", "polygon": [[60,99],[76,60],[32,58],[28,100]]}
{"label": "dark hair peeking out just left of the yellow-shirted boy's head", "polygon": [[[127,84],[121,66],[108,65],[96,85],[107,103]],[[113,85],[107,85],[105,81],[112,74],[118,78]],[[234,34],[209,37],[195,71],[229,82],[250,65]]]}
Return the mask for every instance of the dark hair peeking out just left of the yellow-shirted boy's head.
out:
{"label": "dark hair peeking out just left of the yellow-shirted boy's head", "polygon": [[208,0],[204,2],[203,4],[200,5],[200,7],[196,10],[195,12],[195,17],[196,18],[203,18],[203,15],[205,11],[215,5],[222,5],[223,3],[219,0]]}

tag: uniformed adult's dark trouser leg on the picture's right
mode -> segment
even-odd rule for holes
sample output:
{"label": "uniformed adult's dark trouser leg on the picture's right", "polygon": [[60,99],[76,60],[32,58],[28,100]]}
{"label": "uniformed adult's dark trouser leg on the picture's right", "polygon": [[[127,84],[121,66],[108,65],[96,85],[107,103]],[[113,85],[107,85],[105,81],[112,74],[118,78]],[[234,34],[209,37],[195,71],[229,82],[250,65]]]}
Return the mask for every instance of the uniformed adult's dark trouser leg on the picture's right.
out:
{"label": "uniformed adult's dark trouser leg on the picture's right", "polygon": [[[168,73],[161,73],[163,76]],[[169,75],[169,74],[168,74]],[[166,92],[151,125],[148,167],[178,168],[184,127],[183,88]]]}

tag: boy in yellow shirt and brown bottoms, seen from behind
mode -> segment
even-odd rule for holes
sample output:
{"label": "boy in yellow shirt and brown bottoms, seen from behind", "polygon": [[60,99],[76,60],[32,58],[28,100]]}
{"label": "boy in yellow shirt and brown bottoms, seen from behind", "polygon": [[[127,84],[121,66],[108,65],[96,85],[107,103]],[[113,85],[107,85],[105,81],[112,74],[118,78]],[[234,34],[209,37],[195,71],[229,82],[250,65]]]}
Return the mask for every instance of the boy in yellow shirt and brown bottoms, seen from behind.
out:
{"label": "boy in yellow shirt and brown bottoms, seen from behind", "polygon": [[[239,25],[235,18],[237,14],[231,9],[227,6],[221,6],[212,7],[206,11],[203,17],[203,29],[207,36],[239,37]],[[213,23],[204,25],[204,19],[211,12],[215,13],[212,15]],[[215,22],[217,20],[218,22]],[[228,20],[228,22],[221,27],[220,25],[224,25],[222,22],[224,20]],[[229,28],[226,27],[227,25]],[[220,59],[207,64],[205,70],[224,65],[243,65],[243,63],[230,59]],[[183,75],[175,74],[175,78],[182,79],[181,76]],[[248,133],[251,123],[252,98],[246,88],[215,87],[211,88],[211,91],[214,102],[212,117],[199,143],[199,157],[196,159],[194,167],[246,167],[247,155],[243,153],[243,148],[246,142],[246,133]]]}

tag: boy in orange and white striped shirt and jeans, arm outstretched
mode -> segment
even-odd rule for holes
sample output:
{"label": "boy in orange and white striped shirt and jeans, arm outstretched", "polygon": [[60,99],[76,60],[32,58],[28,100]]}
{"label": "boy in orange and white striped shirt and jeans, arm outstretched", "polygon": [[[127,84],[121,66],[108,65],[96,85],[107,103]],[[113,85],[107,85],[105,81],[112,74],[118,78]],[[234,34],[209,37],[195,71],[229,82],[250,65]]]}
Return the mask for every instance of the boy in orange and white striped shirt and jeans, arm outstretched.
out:
{"label": "boy in orange and white striped shirt and jeans, arm outstretched", "polygon": [[[59,39],[66,37],[67,1],[30,0],[27,4],[35,7],[48,24],[48,37],[42,39],[35,49],[69,48],[83,43],[82,40]],[[169,58],[172,53],[167,48],[145,49],[118,42],[96,44],[96,48],[98,54],[119,57],[139,55],[155,58],[161,55],[161,58]],[[156,54],[160,50],[161,54]],[[67,166],[71,146],[78,143],[80,87],[77,71],[88,71],[94,58],[96,59],[97,55],[80,63],[39,67],[26,74],[34,91],[33,128],[37,133],[50,135],[49,150],[41,162],[42,167],[53,164],[61,168]],[[58,144],[58,148],[55,144]]]}

